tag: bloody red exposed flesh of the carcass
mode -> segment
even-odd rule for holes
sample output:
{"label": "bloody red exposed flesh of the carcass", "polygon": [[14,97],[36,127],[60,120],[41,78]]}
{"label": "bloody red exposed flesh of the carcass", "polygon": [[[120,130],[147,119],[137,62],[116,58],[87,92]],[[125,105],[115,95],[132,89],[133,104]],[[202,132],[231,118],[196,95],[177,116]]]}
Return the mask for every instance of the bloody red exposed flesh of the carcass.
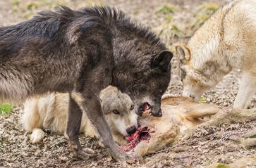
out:
{"label": "bloody red exposed flesh of the carcass", "polygon": [[151,138],[150,133],[153,132],[154,131],[148,129],[148,127],[138,127],[134,134],[126,136],[126,140],[129,141],[129,143],[125,146],[120,146],[121,150],[128,152],[130,150],[134,150],[141,141],[149,142]]}

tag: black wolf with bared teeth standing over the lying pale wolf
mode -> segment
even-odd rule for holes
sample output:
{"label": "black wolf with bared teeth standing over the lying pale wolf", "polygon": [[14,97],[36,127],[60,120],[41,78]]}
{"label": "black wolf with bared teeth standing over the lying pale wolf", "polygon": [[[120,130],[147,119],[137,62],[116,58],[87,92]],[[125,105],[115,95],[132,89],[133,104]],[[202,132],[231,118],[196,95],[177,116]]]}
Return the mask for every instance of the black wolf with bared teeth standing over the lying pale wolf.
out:
{"label": "black wolf with bared teeth standing over the lying pale wolf", "polygon": [[150,105],[152,115],[161,116],[173,54],[150,30],[115,8],[43,11],[31,20],[1,27],[0,44],[0,99],[23,101],[68,92],[66,134],[77,157],[94,154],[83,150],[78,140],[81,107],[111,156],[122,163],[130,159],[114,142],[102,114],[99,92],[108,85],[127,93],[138,115]]}

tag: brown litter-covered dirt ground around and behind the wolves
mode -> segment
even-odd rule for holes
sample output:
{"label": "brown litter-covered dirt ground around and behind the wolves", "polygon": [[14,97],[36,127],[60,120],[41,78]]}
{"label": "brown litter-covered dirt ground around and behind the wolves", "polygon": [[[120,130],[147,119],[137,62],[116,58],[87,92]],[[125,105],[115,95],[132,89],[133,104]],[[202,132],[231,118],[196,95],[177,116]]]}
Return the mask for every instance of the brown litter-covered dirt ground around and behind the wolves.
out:
{"label": "brown litter-covered dirt ground around and behind the wolves", "polygon": [[[41,0],[42,1],[42,0]],[[40,2],[40,1],[39,1]],[[30,18],[35,11],[54,8],[55,1],[45,5],[47,0],[41,4],[31,1],[4,1],[0,0],[0,25],[11,25]],[[61,2],[63,1],[56,1]],[[170,37],[167,45],[173,46],[175,43],[182,43],[188,40],[193,33],[188,27],[190,21],[195,19],[195,9],[201,4],[209,2],[204,0],[102,0],[102,1],[64,1],[63,4],[73,8],[80,8],[86,5],[106,4],[121,8],[128,13],[131,18],[156,30],[156,27],[165,22],[164,15],[157,12],[159,6],[173,4],[178,6],[178,11],[173,13],[173,20],[183,29],[185,35],[182,37]],[[226,1],[212,0],[216,4],[222,5]],[[157,30],[156,30],[157,32]],[[159,32],[157,32],[159,33]],[[164,34],[168,35],[168,34]],[[167,36],[168,37],[168,36]],[[182,91],[181,82],[178,79],[178,59],[173,58],[173,68],[171,84],[168,93],[180,94]],[[214,89],[207,91],[202,97],[207,103],[214,103],[221,108],[231,108],[238,85],[240,82],[240,72],[235,70],[227,75],[223,82]],[[252,101],[250,108],[255,108],[256,98]],[[66,139],[60,135],[47,133],[44,140],[37,145],[29,142],[30,134],[25,132],[20,126],[19,119],[22,109],[16,107],[8,116],[0,116],[0,167],[123,167],[111,160],[105,148],[97,144],[97,140],[80,135],[80,142],[84,147],[93,148],[98,151],[97,157],[90,160],[78,160],[72,157]],[[139,162],[128,165],[128,167],[207,167],[210,164],[221,162],[232,164],[236,160],[244,157],[249,164],[249,160],[255,162],[247,167],[256,167],[256,148],[245,148],[239,139],[246,132],[256,128],[255,120],[244,121],[243,119],[232,124],[217,124],[197,129],[190,138],[178,142],[176,145],[167,146],[163,150],[147,155]],[[238,164],[234,163],[235,167]],[[233,165],[234,165],[233,164]],[[218,164],[215,167],[223,165]]]}

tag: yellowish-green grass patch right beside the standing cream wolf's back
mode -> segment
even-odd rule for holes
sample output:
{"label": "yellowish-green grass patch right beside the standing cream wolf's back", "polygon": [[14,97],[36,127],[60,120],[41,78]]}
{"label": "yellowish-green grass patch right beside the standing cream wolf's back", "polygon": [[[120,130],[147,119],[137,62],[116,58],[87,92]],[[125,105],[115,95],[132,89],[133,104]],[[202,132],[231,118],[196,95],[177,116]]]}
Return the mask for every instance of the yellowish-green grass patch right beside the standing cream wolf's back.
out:
{"label": "yellowish-green grass patch right beside the standing cream wolf's back", "polygon": [[195,10],[195,19],[190,22],[192,30],[197,30],[219,8],[218,4],[209,2],[202,4]]}

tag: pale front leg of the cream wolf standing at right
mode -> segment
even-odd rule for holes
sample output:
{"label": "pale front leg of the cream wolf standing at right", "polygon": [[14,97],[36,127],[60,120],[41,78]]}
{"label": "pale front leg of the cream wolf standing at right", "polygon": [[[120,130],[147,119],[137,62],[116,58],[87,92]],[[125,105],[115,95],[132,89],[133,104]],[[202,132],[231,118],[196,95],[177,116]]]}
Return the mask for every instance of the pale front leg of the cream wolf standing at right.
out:
{"label": "pale front leg of the cream wolf standing at right", "polygon": [[252,96],[256,90],[256,77],[249,73],[243,73],[238,94],[236,96],[233,108],[245,109],[248,108],[252,101]]}

